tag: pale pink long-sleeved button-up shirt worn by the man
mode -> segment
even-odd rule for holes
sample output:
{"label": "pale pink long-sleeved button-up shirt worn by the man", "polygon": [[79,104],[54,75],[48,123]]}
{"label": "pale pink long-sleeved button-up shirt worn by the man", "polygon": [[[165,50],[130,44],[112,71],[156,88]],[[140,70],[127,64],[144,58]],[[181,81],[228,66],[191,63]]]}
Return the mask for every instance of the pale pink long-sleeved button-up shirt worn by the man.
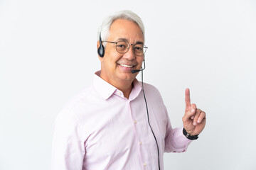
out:
{"label": "pale pink long-sleeved button-up shirt worn by the man", "polygon": [[[75,96],[55,120],[52,170],[158,169],[141,82],[134,79],[129,98],[95,73],[91,86]],[[164,152],[185,152],[191,140],[171,128],[159,91],[144,83],[149,120]]]}

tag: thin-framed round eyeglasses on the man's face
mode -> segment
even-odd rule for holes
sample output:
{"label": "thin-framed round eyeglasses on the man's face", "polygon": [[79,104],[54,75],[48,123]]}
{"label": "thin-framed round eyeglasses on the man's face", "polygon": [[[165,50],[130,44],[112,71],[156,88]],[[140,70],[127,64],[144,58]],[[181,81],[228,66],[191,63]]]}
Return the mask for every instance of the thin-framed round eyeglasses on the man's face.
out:
{"label": "thin-framed round eyeglasses on the man's face", "polygon": [[129,44],[128,42],[125,41],[118,41],[118,42],[112,42],[112,41],[102,41],[102,42],[110,42],[113,44],[116,44],[116,50],[119,53],[126,53],[129,50],[130,45],[133,45],[133,50],[135,55],[144,55],[146,52],[146,47],[143,44]]}

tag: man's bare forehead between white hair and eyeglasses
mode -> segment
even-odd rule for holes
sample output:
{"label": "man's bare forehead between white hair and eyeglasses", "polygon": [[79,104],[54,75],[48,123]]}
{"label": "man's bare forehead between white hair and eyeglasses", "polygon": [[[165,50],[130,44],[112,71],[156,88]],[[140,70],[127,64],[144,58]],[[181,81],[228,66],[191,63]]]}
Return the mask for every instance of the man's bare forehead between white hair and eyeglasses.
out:
{"label": "man's bare forehead between white hair and eyeglasses", "polygon": [[110,26],[108,40],[127,39],[129,42],[144,42],[142,30],[137,23],[124,19],[117,19]]}

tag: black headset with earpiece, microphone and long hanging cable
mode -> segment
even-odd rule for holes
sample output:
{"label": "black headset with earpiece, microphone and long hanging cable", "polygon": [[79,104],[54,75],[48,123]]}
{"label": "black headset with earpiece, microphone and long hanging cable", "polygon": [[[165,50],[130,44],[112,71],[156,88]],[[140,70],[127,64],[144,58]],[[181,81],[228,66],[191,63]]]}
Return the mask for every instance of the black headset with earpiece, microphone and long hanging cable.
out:
{"label": "black headset with earpiece, microphone and long hanging cable", "polygon": [[[100,57],[104,57],[104,55],[105,55],[105,47],[102,45],[101,33],[100,33],[100,47],[97,49],[97,53]],[[154,132],[153,132],[153,130],[151,128],[151,125],[150,125],[150,122],[149,122],[149,109],[148,109],[148,106],[147,106],[147,103],[146,103],[146,96],[145,96],[144,86],[143,86],[144,85],[143,84],[143,70],[146,68],[145,67],[145,55],[143,55],[143,62],[144,62],[144,68],[142,68],[142,69],[133,69],[132,74],[142,71],[142,92],[143,92],[144,101],[145,101],[145,104],[146,104],[146,114],[147,114],[149,127],[150,127],[151,132],[154,136],[154,140],[156,141],[157,154],[158,154],[158,163],[159,163],[159,170],[160,170],[159,145],[158,145],[157,140],[156,140],[156,135],[154,135]]]}

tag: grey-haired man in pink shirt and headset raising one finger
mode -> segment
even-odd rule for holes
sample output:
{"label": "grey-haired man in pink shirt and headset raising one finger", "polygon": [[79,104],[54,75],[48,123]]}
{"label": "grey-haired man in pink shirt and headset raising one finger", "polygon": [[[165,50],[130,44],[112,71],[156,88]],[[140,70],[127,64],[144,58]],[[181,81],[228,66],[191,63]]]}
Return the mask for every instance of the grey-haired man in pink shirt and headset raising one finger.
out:
{"label": "grey-haired man in pink shirt and headset raising one finger", "polygon": [[[164,169],[164,152],[185,152],[206,125],[186,89],[182,128],[171,128],[159,91],[137,81],[144,26],[120,11],[103,21],[97,42],[101,70],[55,121],[52,169]],[[133,71],[134,72],[134,71]]]}

